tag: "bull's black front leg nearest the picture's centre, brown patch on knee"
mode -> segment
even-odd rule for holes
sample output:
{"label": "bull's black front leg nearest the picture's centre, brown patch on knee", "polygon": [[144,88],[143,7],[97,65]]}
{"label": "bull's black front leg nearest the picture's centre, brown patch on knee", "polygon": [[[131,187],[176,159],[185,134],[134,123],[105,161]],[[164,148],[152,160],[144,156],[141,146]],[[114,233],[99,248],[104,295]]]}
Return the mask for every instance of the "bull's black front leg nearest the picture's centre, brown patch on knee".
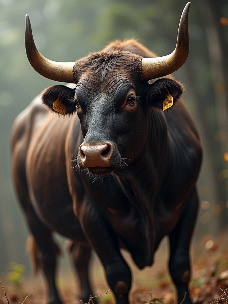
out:
{"label": "bull's black front leg nearest the picture's centre, brown patch on knee", "polygon": [[131,272],[120,254],[118,242],[109,223],[93,202],[87,200],[80,209],[80,222],[88,240],[105,268],[105,274],[117,304],[128,304]]}

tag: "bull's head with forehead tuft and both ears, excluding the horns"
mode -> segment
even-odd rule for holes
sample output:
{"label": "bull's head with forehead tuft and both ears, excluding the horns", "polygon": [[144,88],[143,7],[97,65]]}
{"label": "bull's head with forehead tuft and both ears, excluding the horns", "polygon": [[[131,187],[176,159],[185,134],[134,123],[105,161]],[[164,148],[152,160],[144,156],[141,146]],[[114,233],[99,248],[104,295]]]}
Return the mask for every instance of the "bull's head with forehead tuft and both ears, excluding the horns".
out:
{"label": "bull's head with forehead tuft and both ears, excluding the horns", "polygon": [[[182,86],[171,79],[162,78],[153,84],[142,81],[137,68],[132,68],[137,57],[127,54],[126,61],[126,53],[122,55],[110,64],[105,54],[112,68],[103,66],[102,74],[96,72],[96,64],[103,62],[103,55],[98,53],[96,62],[95,55],[90,55],[80,62],[75,89],[53,86],[42,95],[51,109],[58,98],[66,106],[66,113],[77,112],[84,138],[78,150],[78,166],[95,175],[123,169],[141,157],[151,128],[151,107],[160,111],[167,91],[174,103],[182,94]],[[113,59],[113,54],[110,57]],[[124,69],[119,68],[124,63]]]}

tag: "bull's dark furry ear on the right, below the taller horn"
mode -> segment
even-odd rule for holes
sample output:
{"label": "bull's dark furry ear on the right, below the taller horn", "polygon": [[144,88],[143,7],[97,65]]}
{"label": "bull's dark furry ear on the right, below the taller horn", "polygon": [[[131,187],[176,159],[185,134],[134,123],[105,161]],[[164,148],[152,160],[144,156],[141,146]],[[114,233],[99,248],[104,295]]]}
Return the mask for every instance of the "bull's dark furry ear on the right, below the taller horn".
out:
{"label": "bull's dark furry ear on the right, below the taller horn", "polygon": [[181,95],[183,95],[184,87],[176,80],[161,78],[152,84],[147,83],[143,91],[147,105],[163,109],[163,102],[167,101],[168,93],[172,96],[173,105],[175,105]]}

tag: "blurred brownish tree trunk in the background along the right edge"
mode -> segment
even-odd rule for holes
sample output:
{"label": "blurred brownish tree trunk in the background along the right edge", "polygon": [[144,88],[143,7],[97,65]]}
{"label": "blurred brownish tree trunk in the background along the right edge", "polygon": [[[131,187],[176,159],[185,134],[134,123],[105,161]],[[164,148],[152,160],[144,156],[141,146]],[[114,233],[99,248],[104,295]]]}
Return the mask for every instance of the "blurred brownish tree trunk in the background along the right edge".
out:
{"label": "blurred brownish tree trunk in the background along the right edge", "polygon": [[[211,79],[216,107],[216,116],[219,126],[219,133],[223,134],[220,140],[221,153],[219,158],[218,171],[227,168],[227,162],[223,155],[228,151],[228,93],[227,93],[227,67],[226,56],[224,56],[221,29],[219,26],[219,4],[213,0],[199,0],[199,11],[205,27],[208,44],[209,60],[211,67]],[[219,197],[226,202],[227,192],[224,185],[220,182]],[[221,228],[227,225],[227,211],[221,212],[219,217]]]}

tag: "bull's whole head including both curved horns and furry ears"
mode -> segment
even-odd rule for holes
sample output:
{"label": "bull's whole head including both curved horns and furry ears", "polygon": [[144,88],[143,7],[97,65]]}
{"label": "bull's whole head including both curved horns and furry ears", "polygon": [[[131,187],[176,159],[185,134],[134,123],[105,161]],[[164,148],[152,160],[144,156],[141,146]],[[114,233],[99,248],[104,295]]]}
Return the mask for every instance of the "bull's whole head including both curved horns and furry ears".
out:
{"label": "bull's whole head including both curved horns and furry ears", "polygon": [[152,58],[108,46],[76,63],[51,61],[37,50],[26,16],[25,42],[30,64],[46,78],[76,84],[76,89],[63,85],[47,88],[42,98],[51,109],[59,98],[66,106],[66,114],[77,111],[84,137],[78,152],[80,168],[88,168],[93,174],[107,174],[125,161],[132,161],[148,136],[148,107],[161,109],[167,90],[174,103],[178,100],[183,88],[177,81],[164,78],[153,84],[147,81],[177,71],[187,59],[189,5],[190,2],[181,16],[174,52]]}

